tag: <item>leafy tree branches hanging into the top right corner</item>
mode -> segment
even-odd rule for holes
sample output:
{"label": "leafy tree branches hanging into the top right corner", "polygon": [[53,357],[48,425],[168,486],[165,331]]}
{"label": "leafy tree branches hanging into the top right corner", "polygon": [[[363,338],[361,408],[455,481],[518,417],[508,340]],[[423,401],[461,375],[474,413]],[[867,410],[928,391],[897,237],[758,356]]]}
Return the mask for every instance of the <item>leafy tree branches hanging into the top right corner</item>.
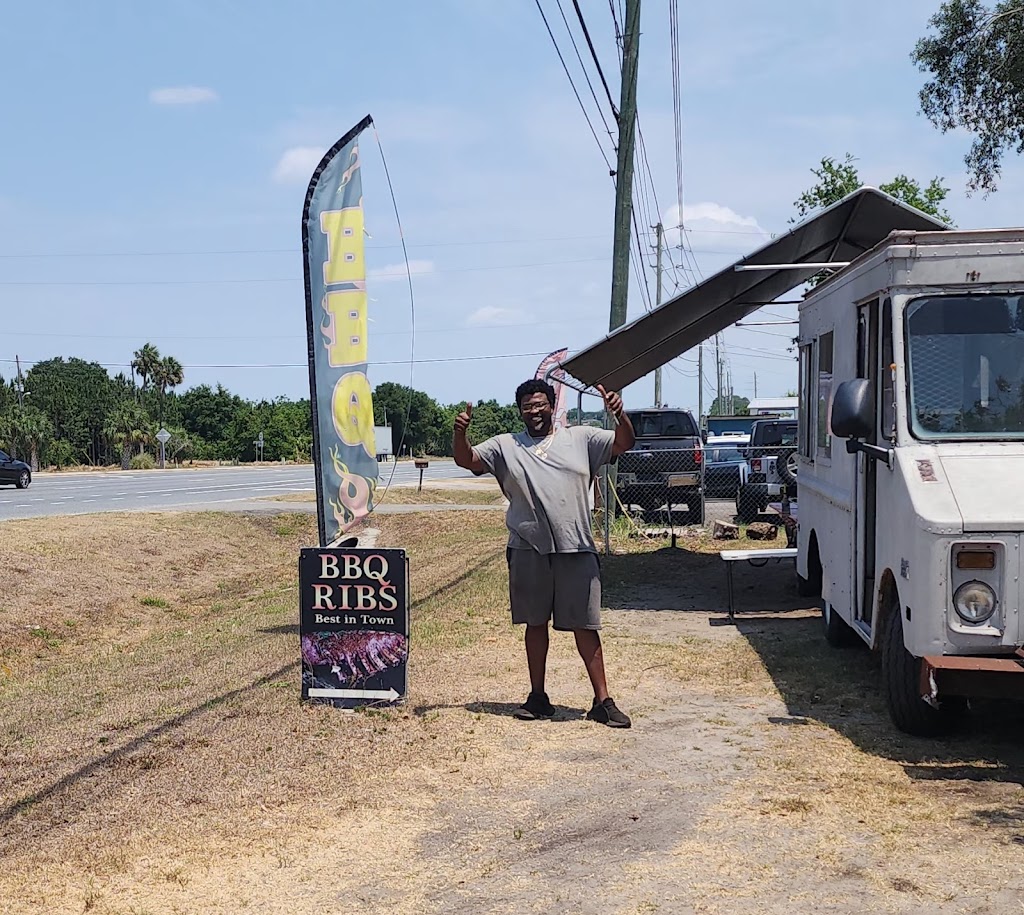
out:
{"label": "leafy tree branches hanging into the top right corner", "polygon": [[994,190],[1002,156],[1024,152],[1024,4],[949,0],[929,19],[935,34],[910,55],[930,79],[922,114],[946,133],[974,134],[964,161],[970,190]]}

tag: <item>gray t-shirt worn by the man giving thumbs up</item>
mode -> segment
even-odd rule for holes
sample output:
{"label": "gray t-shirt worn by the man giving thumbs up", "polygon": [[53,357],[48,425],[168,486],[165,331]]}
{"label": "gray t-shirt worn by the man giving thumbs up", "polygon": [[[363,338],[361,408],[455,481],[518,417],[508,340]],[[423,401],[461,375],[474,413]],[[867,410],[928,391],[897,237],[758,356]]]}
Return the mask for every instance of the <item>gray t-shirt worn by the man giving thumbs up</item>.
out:
{"label": "gray t-shirt worn by the man giving thumbs up", "polygon": [[509,547],[538,553],[597,553],[591,532],[590,485],[611,460],[614,432],[592,426],[559,429],[547,439],[527,432],[496,435],[473,452],[509,500]]}

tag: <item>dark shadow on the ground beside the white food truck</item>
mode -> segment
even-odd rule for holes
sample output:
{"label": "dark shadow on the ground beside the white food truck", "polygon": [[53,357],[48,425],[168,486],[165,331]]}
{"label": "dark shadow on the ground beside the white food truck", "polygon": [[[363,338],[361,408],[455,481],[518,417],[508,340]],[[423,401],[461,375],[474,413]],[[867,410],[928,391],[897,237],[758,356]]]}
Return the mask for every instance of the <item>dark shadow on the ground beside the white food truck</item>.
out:
{"label": "dark shadow on the ground beside the white food truck", "polygon": [[[730,625],[718,554],[667,547],[602,557],[602,564],[609,609],[707,612],[709,625]],[[1024,703],[975,702],[962,727],[941,739],[902,734],[889,720],[878,656],[864,645],[835,649],[825,642],[820,615],[808,612],[817,602],[798,595],[792,561],[735,563],[733,575],[736,630],[785,703],[777,724],[820,722],[922,782],[1024,784]],[[1024,828],[1024,805],[1010,813],[1000,805],[992,815],[1016,818]]]}

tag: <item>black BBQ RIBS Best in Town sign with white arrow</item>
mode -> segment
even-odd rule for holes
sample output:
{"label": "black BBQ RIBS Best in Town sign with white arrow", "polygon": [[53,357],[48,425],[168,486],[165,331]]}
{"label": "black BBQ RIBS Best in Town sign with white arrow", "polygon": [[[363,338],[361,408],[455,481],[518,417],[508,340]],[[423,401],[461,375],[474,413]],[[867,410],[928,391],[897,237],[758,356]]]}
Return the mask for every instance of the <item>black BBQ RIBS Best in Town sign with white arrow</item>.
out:
{"label": "black BBQ RIBS Best in Town sign with white arrow", "polygon": [[404,697],[404,550],[302,550],[299,614],[303,699],[355,708]]}

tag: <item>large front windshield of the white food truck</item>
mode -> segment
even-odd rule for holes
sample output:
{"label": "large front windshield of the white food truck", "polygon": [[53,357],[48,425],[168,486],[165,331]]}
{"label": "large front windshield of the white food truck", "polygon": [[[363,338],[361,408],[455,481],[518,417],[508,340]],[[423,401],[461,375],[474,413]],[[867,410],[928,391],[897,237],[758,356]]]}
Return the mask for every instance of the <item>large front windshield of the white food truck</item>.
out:
{"label": "large front windshield of the white food truck", "polygon": [[929,296],[906,306],[919,438],[1024,438],[1024,297]]}

